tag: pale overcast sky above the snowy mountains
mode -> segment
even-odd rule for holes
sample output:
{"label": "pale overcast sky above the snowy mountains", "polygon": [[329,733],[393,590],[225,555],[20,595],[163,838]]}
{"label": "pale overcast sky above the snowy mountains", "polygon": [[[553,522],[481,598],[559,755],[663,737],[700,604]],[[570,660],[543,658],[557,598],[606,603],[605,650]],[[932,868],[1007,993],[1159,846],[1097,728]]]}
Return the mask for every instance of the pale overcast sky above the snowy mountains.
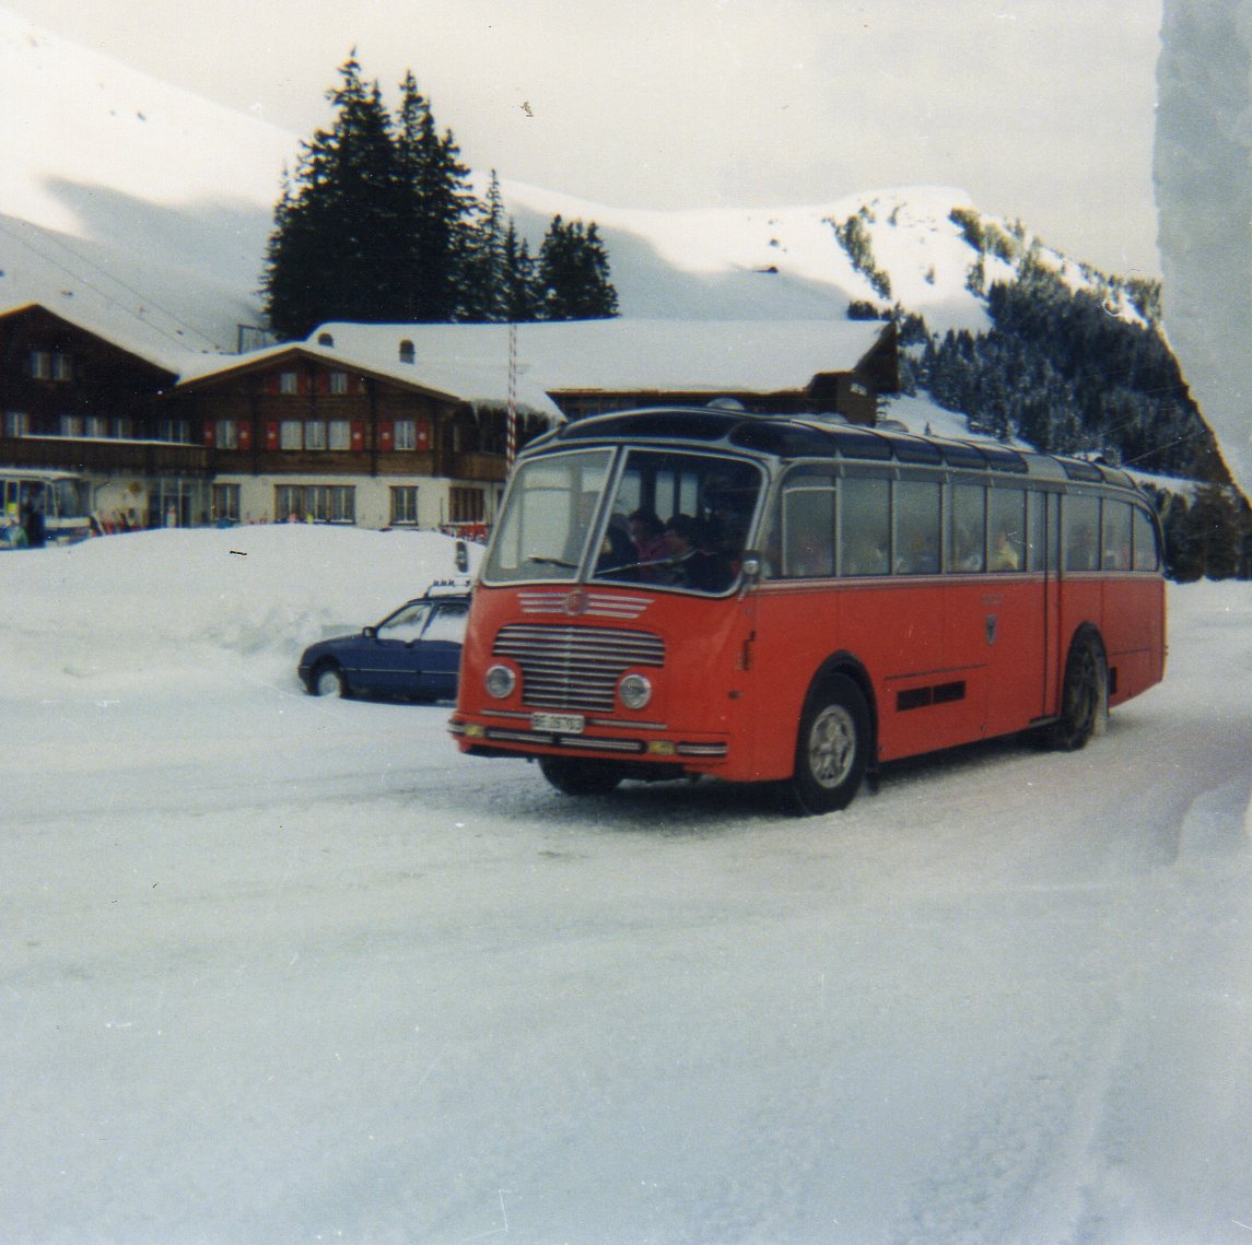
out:
{"label": "pale overcast sky above the snowy mountains", "polygon": [[629,208],[967,190],[1158,275],[1161,0],[0,0],[307,136],[356,46],[472,168]]}

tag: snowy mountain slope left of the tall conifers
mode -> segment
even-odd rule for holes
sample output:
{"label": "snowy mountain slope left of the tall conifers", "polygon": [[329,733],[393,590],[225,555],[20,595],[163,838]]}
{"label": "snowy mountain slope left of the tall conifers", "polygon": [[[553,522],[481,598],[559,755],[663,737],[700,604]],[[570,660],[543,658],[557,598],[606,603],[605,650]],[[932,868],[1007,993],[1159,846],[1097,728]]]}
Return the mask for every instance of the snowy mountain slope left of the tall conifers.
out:
{"label": "snowy mountain slope left of the tall conifers", "polygon": [[0,308],[155,362],[233,350],[297,140],[0,8]]}

